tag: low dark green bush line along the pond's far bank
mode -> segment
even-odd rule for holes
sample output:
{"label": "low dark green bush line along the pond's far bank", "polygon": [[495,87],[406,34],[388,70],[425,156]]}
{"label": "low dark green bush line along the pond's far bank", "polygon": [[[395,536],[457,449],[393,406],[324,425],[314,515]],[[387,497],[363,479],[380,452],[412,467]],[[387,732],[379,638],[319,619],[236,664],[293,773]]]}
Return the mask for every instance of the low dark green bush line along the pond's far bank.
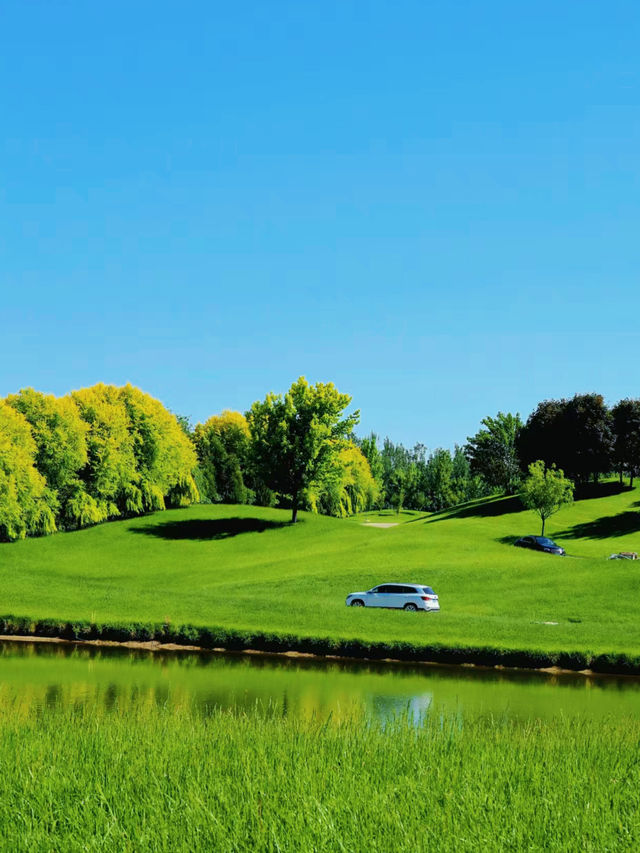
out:
{"label": "low dark green bush line along the pond's far bank", "polygon": [[616,675],[640,675],[640,655],[589,652],[545,652],[535,649],[501,649],[490,646],[421,645],[406,642],[367,642],[365,640],[298,637],[262,631],[239,631],[143,622],[87,622],[84,620],[32,619],[28,616],[0,616],[0,634],[5,636],[46,637],[51,639],[110,642],[157,642],[178,646],[227,651],[301,652],[365,660],[400,660],[422,663],[475,664],[519,669],[561,669]]}

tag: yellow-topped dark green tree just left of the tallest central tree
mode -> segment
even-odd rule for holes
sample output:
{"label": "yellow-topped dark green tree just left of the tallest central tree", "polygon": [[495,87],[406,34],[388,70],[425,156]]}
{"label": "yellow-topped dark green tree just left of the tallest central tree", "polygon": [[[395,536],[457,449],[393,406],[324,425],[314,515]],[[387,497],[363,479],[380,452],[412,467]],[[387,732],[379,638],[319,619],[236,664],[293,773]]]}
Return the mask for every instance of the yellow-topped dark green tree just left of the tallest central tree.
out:
{"label": "yellow-topped dark green tree just left of the tallest central tree", "polygon": [[194,443],[206,498],[225,503],[250,503],[247,487],[249,425],[240,412],[225,409],[194,431]]}

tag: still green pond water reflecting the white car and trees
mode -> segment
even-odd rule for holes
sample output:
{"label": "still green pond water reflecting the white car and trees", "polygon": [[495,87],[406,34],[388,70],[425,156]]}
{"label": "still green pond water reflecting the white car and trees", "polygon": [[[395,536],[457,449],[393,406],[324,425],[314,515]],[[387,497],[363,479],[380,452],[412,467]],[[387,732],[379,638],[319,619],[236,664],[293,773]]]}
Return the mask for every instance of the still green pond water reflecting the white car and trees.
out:
{"label": "still green pond water reflecting the white car and trees", "polygon": [[0,642],[0,708],[126,713],[141,703],[383,721],[407,712],[640,719],[640,679]]}

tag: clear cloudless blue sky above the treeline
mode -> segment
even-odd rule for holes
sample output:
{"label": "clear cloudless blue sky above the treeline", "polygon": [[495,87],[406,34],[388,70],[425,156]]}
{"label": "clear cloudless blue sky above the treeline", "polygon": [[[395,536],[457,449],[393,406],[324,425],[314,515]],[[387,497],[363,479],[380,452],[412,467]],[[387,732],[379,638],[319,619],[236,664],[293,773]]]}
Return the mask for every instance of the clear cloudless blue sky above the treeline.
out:
{"label": "clear cloudless blue sky above the treeline", "polygon": [[637,2],[5,0],[0,395],[640,396]]}

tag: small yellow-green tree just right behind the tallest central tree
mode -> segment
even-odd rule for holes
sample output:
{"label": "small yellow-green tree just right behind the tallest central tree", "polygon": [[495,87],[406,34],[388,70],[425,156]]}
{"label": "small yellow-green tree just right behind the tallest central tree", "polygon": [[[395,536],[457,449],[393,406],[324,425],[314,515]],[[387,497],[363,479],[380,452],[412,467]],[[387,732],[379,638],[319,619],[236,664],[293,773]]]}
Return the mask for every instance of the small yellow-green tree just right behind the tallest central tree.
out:
{"label": "small yellow-green tree just right behind the tallest central tree", "polygon": [[321,480],[306,492],[306,502],[314,512],[344,518],[371,509],[380,496],[365,455],[353,442],[336,449]]}

